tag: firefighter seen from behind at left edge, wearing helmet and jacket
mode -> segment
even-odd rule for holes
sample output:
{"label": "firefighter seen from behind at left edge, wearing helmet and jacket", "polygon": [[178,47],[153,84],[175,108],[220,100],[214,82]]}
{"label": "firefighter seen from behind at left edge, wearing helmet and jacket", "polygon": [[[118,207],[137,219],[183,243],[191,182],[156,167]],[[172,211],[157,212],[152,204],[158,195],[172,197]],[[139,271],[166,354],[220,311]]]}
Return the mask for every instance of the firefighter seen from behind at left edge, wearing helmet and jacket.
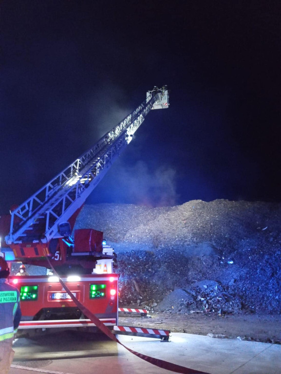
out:
{"label": "firefighter seen from behind at left edge, wearing helmet and jacket", "polygon": [[0,257],[0,373],[8,374],[14,357],[14,334],[19,327],[21,311],[19,290],[6,282],[10,274],[7,262]]}

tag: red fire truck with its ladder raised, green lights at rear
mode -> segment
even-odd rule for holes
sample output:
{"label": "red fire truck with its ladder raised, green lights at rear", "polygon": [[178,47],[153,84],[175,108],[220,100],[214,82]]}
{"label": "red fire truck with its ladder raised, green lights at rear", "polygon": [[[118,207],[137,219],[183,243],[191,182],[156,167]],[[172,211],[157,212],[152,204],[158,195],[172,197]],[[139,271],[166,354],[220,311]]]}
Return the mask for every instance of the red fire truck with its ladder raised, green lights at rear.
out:
{"label": "red fire truck with its ladder raised, green lights at rear", "polygon": [[134,112],[90,150],[24,203],[14,206],[9,217],[1,217],[0,235],[6,235],[2,254],[6,259],[45,271],[9,277],[20,292],[22,320],[17,337],[56,328],[94,330],[95,324],[77,307],[69,290],[105,325],[118,324],[114,251],[104,242],[102,232],[80,229],[73,233],[74,224],[85,200],[150,110],[168,107],[167,86],[154,87]]}

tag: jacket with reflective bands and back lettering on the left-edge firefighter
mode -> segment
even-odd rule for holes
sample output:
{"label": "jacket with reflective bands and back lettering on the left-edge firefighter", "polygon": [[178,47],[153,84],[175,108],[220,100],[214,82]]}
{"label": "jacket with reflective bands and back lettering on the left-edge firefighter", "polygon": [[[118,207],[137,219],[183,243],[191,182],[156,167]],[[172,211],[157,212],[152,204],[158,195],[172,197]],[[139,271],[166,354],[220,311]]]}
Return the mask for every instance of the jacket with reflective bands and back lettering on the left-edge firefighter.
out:
{"label": "jacket with reflective bands and back lettering on the left-edge firefighter", "polygon": [[0,278],[0,341],[14,337],[21,318],[19,291]]}

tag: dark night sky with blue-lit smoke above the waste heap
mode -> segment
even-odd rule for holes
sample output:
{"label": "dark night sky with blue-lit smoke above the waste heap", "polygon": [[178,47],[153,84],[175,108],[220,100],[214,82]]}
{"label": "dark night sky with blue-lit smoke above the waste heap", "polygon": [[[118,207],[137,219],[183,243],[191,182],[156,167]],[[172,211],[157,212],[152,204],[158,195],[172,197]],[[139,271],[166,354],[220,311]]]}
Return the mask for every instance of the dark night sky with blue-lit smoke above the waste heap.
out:
{"label": "dark night sky with blue-lit smoke above the waste heap", "polygon": [[90,203],[281,201],[280,1],[2,1],[0,212],[167,84]]}

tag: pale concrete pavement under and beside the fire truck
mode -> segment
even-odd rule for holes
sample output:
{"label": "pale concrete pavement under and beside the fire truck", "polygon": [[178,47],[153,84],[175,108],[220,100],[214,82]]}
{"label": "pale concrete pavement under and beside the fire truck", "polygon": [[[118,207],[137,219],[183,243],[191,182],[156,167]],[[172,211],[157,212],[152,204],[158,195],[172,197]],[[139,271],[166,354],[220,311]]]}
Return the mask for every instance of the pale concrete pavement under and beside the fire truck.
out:
{"label": "pale concrete pavement under and beside the fire truck", "polygon": [[[77,336],[19,339],[9,374],[160,374],[160,369],[104,338]],[[211,374],[281,374],[281,345],[171,334],[170,342],[143,337],[118,337],[127,347]],[[30,369],[28,369],[30,367]]]}

